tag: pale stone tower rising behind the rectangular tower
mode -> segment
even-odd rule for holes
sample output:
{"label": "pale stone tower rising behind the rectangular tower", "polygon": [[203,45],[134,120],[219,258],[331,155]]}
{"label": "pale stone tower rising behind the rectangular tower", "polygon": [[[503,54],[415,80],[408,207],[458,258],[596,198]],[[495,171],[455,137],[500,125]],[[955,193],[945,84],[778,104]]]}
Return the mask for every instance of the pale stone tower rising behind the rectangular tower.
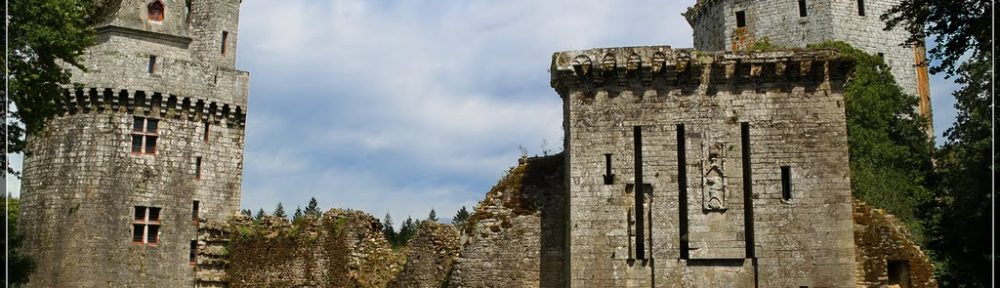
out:
{"label": "pale stone tower rising behind the rectangular tower", "polygon": [[[900,46],[902,28],[883,31],[883,13],[900,0],[698,0],[684,16],[694,30],[694,48],[741,50],[768,39],[785,47],[840,40],[881,55],[903,92],[919,98],[918,111],[930,119],[930,84],[924,44]],[[933,127],[928,134],[933,135]]]}

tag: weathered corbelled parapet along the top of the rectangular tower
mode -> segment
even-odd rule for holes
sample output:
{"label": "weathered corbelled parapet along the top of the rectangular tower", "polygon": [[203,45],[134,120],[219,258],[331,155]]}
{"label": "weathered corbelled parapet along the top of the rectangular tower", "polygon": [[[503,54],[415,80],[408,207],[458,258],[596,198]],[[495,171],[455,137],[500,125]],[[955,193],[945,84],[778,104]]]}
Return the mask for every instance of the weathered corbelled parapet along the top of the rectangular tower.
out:
{"label": "weathered corbelled parapet along the top of the rectangular tower", "polygon": [[[854,60],[831,50],[702,52],[670,46],[601,48],[552,56],[551,85],[572,89],[661,87],[684,94],[788,92],[839,87]],[[837,84],[837,85],[834,85]]]}

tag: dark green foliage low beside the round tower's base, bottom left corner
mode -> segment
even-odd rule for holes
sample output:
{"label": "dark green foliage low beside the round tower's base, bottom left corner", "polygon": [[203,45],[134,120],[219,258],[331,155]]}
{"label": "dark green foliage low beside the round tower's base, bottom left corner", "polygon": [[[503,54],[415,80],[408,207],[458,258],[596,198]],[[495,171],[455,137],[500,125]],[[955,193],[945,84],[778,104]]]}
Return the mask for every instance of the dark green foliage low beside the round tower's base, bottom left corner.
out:
{"label": "dark green foliage low beside the round tower's base, bottom left corner", "polygon": [[[0,198],[5,198],[0,195]],[[17,285],[24,284],[28,282],[28,275],[35,269],[35,262],[20,253],[21,244],[24,242],[24,236],[17,230],[17,215],[20,211],[20,205],[17,198],[6,198],[6,208],[7,211],[4,213],[4,218],[7,221],[7,269],[8,269],[8,285],[16,287]]]}

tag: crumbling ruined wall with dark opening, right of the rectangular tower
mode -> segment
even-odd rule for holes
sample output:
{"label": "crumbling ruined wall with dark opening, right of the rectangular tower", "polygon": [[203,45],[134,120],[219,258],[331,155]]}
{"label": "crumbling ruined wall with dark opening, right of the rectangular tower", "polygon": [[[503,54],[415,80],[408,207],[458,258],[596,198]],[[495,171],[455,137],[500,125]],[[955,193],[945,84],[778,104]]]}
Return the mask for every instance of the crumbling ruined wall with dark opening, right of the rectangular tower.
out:
{"label": "crumbling ruined wall with dark opening, right of the rectangular tower", "polygon": [[938,287],[933,264],[909,236],[896,217],[855,200],[858,287]]}

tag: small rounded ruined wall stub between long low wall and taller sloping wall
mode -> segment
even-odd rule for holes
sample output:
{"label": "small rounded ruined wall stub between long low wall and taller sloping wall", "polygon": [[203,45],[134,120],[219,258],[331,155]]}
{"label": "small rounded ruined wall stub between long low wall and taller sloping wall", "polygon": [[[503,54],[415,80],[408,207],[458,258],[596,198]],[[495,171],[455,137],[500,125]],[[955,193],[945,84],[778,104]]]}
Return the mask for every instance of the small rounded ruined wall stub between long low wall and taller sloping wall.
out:
{"label": "small rounded ruined wall stub between long low wall and taller sloping wall", "polygon": [[444,287],[462,248],[455,226],[421,221],[408,246],[403,271],[387,287]]}

